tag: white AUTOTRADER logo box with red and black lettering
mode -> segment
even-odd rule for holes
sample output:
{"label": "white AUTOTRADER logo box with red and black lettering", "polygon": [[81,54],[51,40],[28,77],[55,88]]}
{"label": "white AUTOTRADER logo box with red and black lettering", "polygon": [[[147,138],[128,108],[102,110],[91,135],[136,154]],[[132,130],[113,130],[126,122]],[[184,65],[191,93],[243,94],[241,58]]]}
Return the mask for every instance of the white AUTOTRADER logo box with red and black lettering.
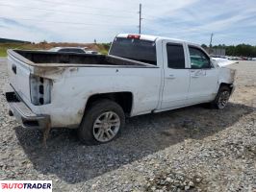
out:
{"label": "white AUTOTRADER logo box with red and black lettering", "polygon": [[52,180],[0,180],[0,191],[52,192]]}

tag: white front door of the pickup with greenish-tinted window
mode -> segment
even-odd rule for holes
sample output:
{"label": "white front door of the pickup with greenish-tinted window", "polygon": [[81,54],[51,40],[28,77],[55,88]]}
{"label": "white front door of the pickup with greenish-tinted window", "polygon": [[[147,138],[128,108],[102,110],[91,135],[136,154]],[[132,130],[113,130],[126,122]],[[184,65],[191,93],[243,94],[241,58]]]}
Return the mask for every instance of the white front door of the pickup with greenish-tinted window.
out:
{"label": "white front door of the pickup with greenish-tinted window", "polygon": [[201,48],[189,45],[188,49],[191,63],[188,101],[196,104],[214,100],[218,90],[218,69]]}

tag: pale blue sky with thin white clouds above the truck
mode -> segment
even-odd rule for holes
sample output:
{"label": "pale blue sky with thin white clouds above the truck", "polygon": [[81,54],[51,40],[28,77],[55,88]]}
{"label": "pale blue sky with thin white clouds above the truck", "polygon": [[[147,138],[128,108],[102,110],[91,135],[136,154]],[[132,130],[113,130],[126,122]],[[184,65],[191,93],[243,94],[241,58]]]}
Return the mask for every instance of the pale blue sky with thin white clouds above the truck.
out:
{"label": "pale blue sky with thin white clouds above the truck", "polygon": [[[110,42],[138,33],[137,0],[0,0],[0,37]],[[256,45],[255,0],[141,0],[142,34]]]}

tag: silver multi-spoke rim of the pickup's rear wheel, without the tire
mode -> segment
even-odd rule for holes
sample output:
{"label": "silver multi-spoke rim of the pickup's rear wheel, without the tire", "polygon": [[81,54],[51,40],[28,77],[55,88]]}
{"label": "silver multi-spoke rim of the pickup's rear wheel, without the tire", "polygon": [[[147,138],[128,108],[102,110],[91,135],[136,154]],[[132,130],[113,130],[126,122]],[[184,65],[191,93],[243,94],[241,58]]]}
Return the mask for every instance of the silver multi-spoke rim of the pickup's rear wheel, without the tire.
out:
{"label": "silver multi-spoke rim of the pickup's rear wheel, without the tire", "polygon": [[99,142],[112,140],[120,129],[120,118],[114,111],[101,113],[93,123],[93,136]]}

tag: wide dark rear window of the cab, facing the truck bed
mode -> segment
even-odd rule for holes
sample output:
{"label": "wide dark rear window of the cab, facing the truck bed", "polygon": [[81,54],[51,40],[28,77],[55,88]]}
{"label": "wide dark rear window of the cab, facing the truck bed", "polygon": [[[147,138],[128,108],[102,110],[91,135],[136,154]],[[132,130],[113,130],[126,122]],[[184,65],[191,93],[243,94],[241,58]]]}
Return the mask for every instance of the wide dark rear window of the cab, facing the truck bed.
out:
{"label": "wide dark rear window of the cab, facing the truck bed", "polygon": [[116,37],[112,44],[110,55],[154,65],[157,64],[156,44],[150,40]]}

